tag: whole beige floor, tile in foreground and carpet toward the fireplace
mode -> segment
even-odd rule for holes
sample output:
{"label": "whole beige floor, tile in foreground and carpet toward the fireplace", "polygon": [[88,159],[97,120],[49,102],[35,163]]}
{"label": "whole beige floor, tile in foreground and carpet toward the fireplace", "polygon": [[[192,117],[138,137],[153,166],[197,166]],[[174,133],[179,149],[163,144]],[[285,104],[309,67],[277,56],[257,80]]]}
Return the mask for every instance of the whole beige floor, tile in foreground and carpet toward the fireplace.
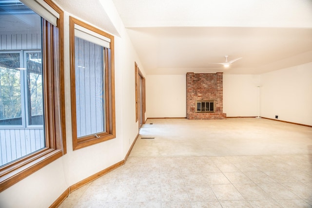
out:
{"label": "whole beige floor, tile in foreground and carpet toward the fireplace", "polygon": [[312,128],[255,118],[148,119],[126,164],[60,207],[312,208]]}

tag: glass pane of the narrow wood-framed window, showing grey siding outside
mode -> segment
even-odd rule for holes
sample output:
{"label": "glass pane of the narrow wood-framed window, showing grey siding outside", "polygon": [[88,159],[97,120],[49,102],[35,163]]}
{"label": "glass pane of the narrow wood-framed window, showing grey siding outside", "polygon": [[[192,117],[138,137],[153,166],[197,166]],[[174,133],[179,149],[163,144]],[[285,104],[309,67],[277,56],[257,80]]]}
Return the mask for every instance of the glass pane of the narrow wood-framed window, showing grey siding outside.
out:
{"label": "glass pane of the narrow wood-framed window, showing grey siding outside", "polygon": [[77,137],[106,131],[103,50],[75,37]]}

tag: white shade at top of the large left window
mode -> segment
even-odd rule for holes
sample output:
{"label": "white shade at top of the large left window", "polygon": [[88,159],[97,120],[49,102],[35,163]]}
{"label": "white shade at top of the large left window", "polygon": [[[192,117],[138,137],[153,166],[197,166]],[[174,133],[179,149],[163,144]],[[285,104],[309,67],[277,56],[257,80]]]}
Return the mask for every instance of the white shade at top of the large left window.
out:
{"label": "white shade at top of the large left window", "polygon": [[59,13],[55,11],[44,0],[20,0],[24,5],[36,12],[43,19],[49,21],[51,24],[57,26]]}

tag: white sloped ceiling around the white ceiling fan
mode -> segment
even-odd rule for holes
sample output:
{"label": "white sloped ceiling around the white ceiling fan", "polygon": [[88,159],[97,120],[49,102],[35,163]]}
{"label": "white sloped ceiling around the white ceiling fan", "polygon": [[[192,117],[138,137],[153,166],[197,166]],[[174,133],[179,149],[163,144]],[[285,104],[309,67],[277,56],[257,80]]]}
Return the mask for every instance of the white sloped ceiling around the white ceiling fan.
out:
{"label": "white sloped ceiling around the white ceiling fan", "polygon": [[[113,0],[147,74],[262,74],[312,61],[312,0]],[[243,57],[229,69],[211,62]]]}

